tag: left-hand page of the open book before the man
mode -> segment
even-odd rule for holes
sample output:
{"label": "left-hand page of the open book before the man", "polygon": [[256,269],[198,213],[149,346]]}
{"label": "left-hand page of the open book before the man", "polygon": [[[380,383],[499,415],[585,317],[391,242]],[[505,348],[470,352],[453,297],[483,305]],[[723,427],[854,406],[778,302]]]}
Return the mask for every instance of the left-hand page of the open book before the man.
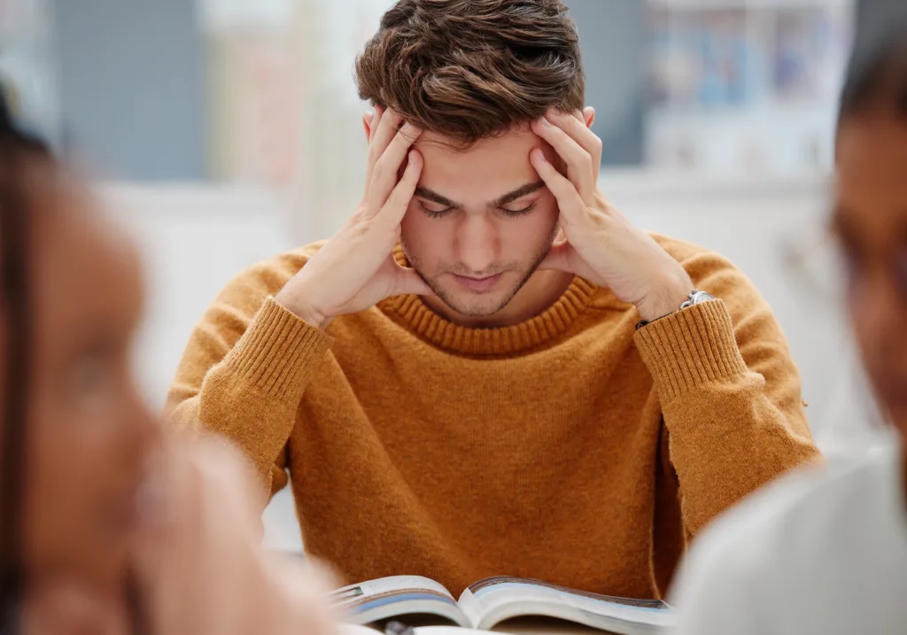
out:
{"label": "left-hand page of the open book before the man", "polygon": [[351,584],[331,592],[328,599],[354,624],[371,624],[404,615],[434,615],[443,618],[442,621],[469,625],[450,591],[421,576],[398,575]]}

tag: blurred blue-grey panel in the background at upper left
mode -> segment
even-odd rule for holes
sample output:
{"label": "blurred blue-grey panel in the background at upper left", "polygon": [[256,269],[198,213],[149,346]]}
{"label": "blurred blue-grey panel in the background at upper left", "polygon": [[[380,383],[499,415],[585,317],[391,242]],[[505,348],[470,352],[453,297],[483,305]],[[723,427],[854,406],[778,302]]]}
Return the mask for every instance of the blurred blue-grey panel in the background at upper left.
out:
{"label": "blurred blue-grey panel in the background at upper left", "polygon": [[110,177],[204,179],[205,83],[194,3],[52,6],[61,141]]}

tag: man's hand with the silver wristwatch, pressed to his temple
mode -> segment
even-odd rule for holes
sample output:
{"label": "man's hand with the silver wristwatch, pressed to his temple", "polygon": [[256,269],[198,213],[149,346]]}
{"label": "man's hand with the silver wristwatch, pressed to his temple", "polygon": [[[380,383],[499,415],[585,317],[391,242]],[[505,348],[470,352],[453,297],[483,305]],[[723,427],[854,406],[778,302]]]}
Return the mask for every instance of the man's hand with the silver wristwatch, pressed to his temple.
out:
{"label": "man's hand with the silver wristwatch, pressed to his temple", "polygon": [[[575,115],[550,111],[532,122],[532,131],[560,155],[567,175],[539,148],[532,167],[558,200],[561,239],[541,263],[586,278],[639,309],[651,321],[672,313],[688,298],[693,283],[677,260],[648,233],[605,200],[598,187],[601,140]],[[593,112],[587,109],[591,117]]]}

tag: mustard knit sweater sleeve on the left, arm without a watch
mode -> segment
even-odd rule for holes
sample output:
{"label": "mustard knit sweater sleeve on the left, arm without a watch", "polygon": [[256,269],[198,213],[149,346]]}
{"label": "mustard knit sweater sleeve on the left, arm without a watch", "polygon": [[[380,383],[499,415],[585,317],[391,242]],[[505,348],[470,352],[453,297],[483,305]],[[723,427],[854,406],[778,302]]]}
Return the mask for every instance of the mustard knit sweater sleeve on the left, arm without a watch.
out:
{"label": "mustard knit sweater sleeve on the left, arm without a watch", "polygon": [[270,297],[292,272],[258,266],[221,291],[192,331],[165,410],[177,428],[238,445],[271,494],[287,484],[284,450],[297,408],[332,344]]}

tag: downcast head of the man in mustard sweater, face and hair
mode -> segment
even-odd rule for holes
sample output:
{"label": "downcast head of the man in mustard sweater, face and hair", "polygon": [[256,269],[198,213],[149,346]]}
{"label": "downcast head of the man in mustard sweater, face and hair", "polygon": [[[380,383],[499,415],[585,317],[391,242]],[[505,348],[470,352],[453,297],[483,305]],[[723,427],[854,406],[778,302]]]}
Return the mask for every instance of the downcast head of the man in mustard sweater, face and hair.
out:
{"label": "downcast head of the man in mustard sweater, face and hair", "polygon": [[551,108],[583,106],[579,36],[566,7],[402,0],[357,60],[356,78],[363,99],[425,131],[415,144],[424,169],[402,226],[407,259],[449,308],[492,316],[532,276],[557,228],[557,202],[529,153],[539,147],[561,161],[528,124]]}

